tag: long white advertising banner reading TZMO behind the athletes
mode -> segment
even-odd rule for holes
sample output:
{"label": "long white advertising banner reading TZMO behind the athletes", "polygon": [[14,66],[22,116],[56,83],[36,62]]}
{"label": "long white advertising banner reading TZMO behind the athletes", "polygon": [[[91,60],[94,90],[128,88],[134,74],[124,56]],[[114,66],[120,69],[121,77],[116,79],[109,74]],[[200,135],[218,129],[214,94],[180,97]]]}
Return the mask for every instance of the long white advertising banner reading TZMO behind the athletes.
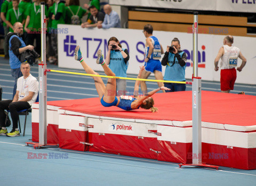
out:
{"label": "long white advertising banner reading TZMO behind the athletes", "polygon": [[[65,31],[66,30],[66,31]],[[81,64],[74,59],[74,51],[77,45],[81,46],[83,59],[89,66],[98,71],[103,71],[99,64],[96,64],[97,51],[102,50],[105,56],[108,51],[108,39],[115,36],[122,45],[127,48],[130,54],[127,74],[138,74],[139,66],[143,65],[146,38],[141,30],[110,28],[110,29],[83,29],[75,25],[58,25],[58,65],[61,68],[83,69]],[[193,34],[175,33],[169,31],[154,31],[154,36],[166,51],[167,45],[171,45],[174,37],[180,40],[181,50],[187,54],[186,78],[191,79],[193,74]],[[220,80],[220,70],[214,71],[214,59],[223,45],[221,35],[198,34],[198,76],[203,80]],[[256,84],[256,54],[253,45],[256,38],[234,37],[234,46],[240,48],[247,59],[246,66],[241,72],[237,71],[236,83]],[[162,55],[163,57],[163,55]],[[242,60],[238,59],[238,66]],[[220,61],[219,61],[220,65]],[[163,75],[165,67],[163,67]]]}

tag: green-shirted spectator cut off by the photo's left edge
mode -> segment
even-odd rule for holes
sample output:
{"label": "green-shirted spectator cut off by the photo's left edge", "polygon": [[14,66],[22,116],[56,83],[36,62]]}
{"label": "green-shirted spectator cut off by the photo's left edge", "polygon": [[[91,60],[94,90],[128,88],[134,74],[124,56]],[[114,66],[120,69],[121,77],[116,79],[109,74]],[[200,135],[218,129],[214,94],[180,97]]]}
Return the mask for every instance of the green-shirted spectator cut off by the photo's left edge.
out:
{"label": "green-shirted spectator cut off by the photo's left edge", "polygon": [[[10,1],[5,0],[3,4],[1,5],[1,20],[3,21],[3,27],[4,27],[4,58],[8,59],[8,43],[6,40],[6,36],[9,33],[9,27],[6,25],[6,14],[8,9],[8,5],[10,4]],[[12,4],[12,3],[11,3]]]}

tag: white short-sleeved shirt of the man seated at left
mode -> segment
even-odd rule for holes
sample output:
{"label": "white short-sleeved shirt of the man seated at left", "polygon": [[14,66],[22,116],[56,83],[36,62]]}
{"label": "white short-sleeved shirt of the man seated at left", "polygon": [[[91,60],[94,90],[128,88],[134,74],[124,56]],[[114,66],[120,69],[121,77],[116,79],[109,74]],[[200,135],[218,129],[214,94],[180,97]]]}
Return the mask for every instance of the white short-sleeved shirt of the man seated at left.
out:
{"label": "white short-sleeved shirt of the man seated at left", "polygon": [[17,80],[17,91],[19,91],[19,98],[18,100],[21,100],[28,96],[29,92],[35,92],[32,99],[28,101],[28,103],[31,104],[36,102],[36,98],[38,95],[38,81],[37,79],[29,74],[29,76],[24,79],[24,77],[20,77]]}

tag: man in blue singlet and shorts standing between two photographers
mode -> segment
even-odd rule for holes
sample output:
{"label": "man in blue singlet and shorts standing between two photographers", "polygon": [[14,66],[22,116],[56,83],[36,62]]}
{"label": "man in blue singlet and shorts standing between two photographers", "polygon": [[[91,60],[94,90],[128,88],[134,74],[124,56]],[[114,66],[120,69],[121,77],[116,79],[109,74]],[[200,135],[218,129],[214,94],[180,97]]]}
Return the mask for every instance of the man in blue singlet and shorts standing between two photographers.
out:
{"label": "man in blue singlet and shorts standing between two photographers", "polygon": [[[155,74],[157,80],[163,80],[162,65],[160,62],[161,54],[164,53],[162,45],[158,42],[158,39],[153,36],[153,27],[146,25],[143,29],[143,34],[146,37],[145,45],[145,70],[142,71],[141,78],[147,79],[151,73]],[[164,86],[164,83],[157,82],[158,86]],[[145,81],[140,83],[141,91],[147,93],[147,85]],[[165,90],[162,90],[165,92]]]}

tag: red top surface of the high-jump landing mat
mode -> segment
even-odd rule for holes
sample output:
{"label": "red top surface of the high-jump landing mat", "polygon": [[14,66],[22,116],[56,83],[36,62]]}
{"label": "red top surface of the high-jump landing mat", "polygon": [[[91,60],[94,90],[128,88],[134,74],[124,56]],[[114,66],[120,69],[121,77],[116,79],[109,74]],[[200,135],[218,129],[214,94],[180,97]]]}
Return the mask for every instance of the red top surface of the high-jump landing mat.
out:
{"label": "red top surface of the high-jump landing mat", "polygon": [[[154,107],[158,112],[137,109],[125,111],[118,107],[103,107],[99,98],[84,100],[50,101],[55,106],[64,106],[72,101],[73,106],[63,108],[83,114],[135,118],[147,120],[192,120],[192,92],[156,93]],[[60,103],[60,104],[59,104]],[[256,126],[256,96],[202,91],[202,121],[237,126]]]}

